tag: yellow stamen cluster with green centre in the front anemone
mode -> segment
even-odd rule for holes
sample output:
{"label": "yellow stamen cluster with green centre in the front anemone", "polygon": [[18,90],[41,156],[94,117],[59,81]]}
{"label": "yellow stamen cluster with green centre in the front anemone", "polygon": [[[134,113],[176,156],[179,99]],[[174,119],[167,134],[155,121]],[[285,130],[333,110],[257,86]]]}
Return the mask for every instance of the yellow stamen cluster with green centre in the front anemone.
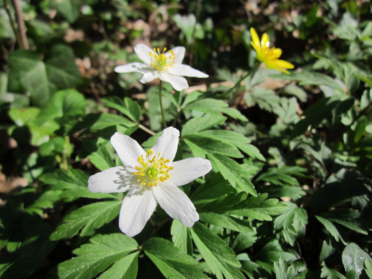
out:
{"label": "yellow stamen cluster with green centre in the front anemone", "polygon": [[160,153],[153,156],[151,149],[147,150],[145,158],[141,155],[137,161],[140,166],[135,166],[138,172],[133,174],[138,176],[137,181],[143,186],[157,186],[159,181],[167,180],[170,177],[169,171],[173,170],[173,167],[166,165],[170,162],[169,159],[160,157]]}

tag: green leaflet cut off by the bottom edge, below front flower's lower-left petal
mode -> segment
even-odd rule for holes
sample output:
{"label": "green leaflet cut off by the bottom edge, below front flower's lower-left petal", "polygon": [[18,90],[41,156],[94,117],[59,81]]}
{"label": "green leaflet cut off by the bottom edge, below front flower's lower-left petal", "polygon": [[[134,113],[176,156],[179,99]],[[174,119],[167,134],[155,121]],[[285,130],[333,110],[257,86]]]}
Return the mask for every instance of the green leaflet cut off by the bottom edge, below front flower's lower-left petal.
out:
{"label": "green leaflet cut off by the bottom edge, below front flower's lower-left petal", "polygon": [[108,270],[102,273],[99,279],[136,279],[138,271],[138,254],[134,252],[114,263]]}

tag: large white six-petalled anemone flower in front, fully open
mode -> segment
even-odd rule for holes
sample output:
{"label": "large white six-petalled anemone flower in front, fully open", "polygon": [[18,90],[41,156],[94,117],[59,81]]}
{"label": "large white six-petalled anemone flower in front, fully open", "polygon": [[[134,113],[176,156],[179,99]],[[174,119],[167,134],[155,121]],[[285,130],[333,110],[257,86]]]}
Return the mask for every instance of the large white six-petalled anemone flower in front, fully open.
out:
{"label": "large white six-petalled anemone flower in front, fully open", "polygon": [[113,167],[88,179],[91,192],[126,192],[120,210],[119,227],[132,237],[140,233],[157,203],[173,219],[187,227],[199,220],[195,206],[177,186],[203,176],[211,162],[203,158],[187,158],[173,162],[180,132],[173,127],[164,129],[155,146],[147,152],[137,141],[116,132],[111,144],[124,167]]}

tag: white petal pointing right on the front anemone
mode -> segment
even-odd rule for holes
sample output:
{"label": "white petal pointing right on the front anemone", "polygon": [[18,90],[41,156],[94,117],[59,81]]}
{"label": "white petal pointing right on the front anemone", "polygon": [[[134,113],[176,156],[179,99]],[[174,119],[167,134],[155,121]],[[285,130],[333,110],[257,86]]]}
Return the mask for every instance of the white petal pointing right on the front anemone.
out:
{"label": "white petal pointing right on the front anemone", "polygon": [[209,173],[212,169],[211,162],[200,157],[187,158],[181,161],[171,162],[168,165],[174,167],[174,169],[169,171],[170,177],[167,181],[176,186],[192,182],[196,178]]}

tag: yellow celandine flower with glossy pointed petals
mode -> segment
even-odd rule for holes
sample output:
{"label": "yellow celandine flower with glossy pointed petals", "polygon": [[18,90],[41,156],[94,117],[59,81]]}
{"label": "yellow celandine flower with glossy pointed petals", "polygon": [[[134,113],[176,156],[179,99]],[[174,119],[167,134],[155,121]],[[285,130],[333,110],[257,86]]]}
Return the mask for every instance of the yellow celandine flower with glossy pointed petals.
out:
{"label": "yellow celandine flower with glossy pointed petals", "polygon": [[270,48],[270,40],[267,33],[262,35],[260,42],[256,30],[251,28],[250,31],[252,37],[251,45],[257,52],[257,59],[264,62],[269,69],[278,69],[289,74],[286,69],[293,69],[295,66],[285,60],[278,59],[282,55],[282,50],[275,47]]}

